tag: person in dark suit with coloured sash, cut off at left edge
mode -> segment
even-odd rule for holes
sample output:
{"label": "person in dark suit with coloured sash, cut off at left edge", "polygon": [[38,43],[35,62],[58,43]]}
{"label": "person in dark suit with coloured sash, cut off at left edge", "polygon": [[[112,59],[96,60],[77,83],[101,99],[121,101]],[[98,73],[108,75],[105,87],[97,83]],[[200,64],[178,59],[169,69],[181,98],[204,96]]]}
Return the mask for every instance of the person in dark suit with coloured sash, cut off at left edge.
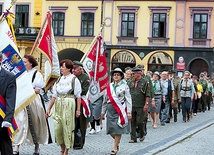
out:
{"label": "person in dark suit with coloured sash, cut off at left edge", "polygon": [[16,76],[2,68],[1,63],[2,52],[0,52],[0,154],[11,155],[13,149],[8,131],[14,124]]}

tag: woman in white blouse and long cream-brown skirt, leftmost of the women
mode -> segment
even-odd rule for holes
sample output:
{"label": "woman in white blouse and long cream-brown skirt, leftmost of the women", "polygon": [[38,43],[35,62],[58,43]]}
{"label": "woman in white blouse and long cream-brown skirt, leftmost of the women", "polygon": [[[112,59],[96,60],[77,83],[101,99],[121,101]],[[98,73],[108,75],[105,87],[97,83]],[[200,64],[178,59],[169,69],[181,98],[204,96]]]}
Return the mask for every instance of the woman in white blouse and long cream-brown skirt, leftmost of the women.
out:
{"label": "woman in white blouse and long cream-brown skirt, leftmost of the women", "polygon": [[32,81],[36,98],[16,116],[19,126],[19,132],[14,140],[14,154],[18,153],[20,144],[35,145],[34,155],[39,155],[39,144],[51,143],[48,123],[46,122],[45,109],[40,90],[44,87],[45,82],[42,74],[35,68],[38,63],[32,55],[24,55],[23,62],[26,67],[29,78]]}

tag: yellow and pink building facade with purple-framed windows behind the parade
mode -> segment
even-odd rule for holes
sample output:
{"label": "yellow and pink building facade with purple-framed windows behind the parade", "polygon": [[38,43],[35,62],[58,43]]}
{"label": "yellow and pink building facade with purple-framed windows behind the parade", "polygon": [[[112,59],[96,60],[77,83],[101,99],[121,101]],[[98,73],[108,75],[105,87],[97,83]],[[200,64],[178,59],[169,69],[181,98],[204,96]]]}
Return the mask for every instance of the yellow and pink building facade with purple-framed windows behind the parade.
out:
{"label": "yellow and pink building facade with purple-framed windows behind the parade", "polygon": [[[0,11],[2,5],[0,0]],[[214,0],[19,0],[13,11],[15,25],[22,23],[21,53],[30,53],[36,35],[18,30],[40,27],[51,10],[60,60],[80,60],[104,21],[109,69],[143,64],[146,71],[207,71],[214,77],[213,6]]]}

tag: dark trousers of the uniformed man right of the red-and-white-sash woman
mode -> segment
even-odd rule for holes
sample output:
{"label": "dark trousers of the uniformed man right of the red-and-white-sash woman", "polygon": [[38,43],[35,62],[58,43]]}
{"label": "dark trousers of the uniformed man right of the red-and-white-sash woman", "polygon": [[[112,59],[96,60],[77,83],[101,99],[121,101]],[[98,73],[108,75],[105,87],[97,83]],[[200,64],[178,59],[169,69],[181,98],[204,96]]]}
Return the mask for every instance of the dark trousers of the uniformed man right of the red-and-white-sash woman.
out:
{"label": "dark trousers of the uniformed man right of the red-and-white-sash woman", "polygon": [[131,140],[137,141],[136,128],[138,128],[140,138],[146,135],[146,118],[147,112],[142,108],[132,108],[132,120],[131,120]]}

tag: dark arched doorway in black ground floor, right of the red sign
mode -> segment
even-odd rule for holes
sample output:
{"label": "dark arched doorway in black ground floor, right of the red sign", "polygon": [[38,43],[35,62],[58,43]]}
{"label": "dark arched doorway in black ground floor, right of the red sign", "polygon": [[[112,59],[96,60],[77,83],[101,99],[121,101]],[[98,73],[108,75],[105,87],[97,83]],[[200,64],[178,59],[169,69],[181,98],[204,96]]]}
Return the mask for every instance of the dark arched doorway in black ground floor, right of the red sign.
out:
{"label": "dark arched doorway in black ground floor, right of the red sign", "polygon": [[208,72],[208,68],[209,66],[205,60],[195,59],[190,63],[189,71],[193,75],[199,76],[201,72],[204,72],[204,71]]}

